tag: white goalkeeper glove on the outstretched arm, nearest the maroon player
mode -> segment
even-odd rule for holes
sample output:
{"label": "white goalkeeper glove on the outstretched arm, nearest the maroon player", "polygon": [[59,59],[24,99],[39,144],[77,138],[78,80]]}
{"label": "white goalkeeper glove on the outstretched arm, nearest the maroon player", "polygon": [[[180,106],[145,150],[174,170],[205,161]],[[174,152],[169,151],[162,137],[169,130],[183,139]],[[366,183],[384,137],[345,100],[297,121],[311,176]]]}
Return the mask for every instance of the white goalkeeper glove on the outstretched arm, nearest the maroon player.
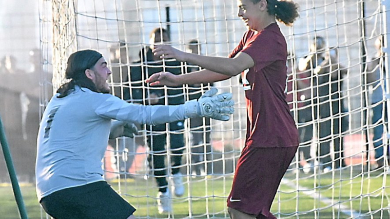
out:
{"label": "white goalkeeper glove on the outstretched arm, nearest the maroon player", "polygon": [[203,94],[198,101],[187,101],[184,103],[186,116],[208,117],[217,120],[227,121],[230,119],[229,114],[234,113],[234,100],[232,93],[215,94],[218,90],[213,87]]}

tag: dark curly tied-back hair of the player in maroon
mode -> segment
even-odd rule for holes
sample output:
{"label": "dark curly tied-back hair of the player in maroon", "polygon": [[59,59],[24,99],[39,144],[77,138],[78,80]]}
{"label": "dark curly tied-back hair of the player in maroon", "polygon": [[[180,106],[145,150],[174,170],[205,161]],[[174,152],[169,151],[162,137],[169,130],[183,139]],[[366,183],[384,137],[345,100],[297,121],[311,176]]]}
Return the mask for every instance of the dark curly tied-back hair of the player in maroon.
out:
{"label": "dark curly tied-back hair of the player in maroon", "polygon": [[[254,4],[260,0],[251,0]],[[276,20],[291,26],[296,18],[299,17],[299,6],[292,0],[267,0],[267,12],[274,15]]]}

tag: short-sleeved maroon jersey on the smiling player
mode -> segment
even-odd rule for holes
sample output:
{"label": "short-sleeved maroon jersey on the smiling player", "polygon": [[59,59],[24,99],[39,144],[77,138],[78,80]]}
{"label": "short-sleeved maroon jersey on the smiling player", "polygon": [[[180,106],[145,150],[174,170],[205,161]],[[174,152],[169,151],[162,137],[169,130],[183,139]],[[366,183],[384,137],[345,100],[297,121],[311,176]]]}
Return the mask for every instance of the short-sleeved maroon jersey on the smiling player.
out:
{"label": "short-sleeved maroon jersey on the smiling player", "polygon": [[298,130],[284,93],[287,44],[279,26],[273,23],[258,33],[247,31],[229,57],[238,52],[254,60],[254,67],[241,74],[247,102],[245,146],[298,146]]}

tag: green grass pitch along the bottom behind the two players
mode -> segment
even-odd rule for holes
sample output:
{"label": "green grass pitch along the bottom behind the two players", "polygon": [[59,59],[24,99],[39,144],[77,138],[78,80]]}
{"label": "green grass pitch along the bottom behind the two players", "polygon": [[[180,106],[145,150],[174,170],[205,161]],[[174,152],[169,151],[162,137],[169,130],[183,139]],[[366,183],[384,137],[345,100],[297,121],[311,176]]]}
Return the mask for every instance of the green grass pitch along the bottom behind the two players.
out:
{"label": "green grass pitch along the bottom behind the two players", "polygon": [[[371,218],[364,217],[365,214],[370,214],[375,219],[390,217],[387,199],[387,194],[390,195],[390,176],[384,177],[383,172],[361,174],[346,170],[312,176],[301,174],[299,185],[296,176],[295,173],[288,172],[276,194],[271,211],[278,218],[344,219],[350,218],[350,212],[362,215],[361,218]],[[173,200],[174,218],[229,218],[226,196],[230,191],[232,176],[209,176],[207,181],[204,179],[186,179],[185,195],[181,198],[174,197]],[[121,181],[120,184],[111,184],[137,208],[137,217],[168,218],[168,215],[160,215],[157,212],[153,179],[132,179],[126,183]],[[21,185],[21,191],[29,218],[45,218],[37,201],[35,186]],[[188,197],[188,194],[192,196]],[[347,209],[347,213],[342,207]],[[0,218],[19,218],[9,184],[0,186]]]}

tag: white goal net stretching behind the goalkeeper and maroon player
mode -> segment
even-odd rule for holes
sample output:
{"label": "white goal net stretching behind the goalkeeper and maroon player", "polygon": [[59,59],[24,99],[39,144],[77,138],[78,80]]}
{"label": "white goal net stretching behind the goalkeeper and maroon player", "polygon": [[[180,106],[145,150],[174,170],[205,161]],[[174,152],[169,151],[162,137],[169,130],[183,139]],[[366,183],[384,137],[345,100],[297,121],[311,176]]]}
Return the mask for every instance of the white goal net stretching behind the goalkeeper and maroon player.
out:
{"label": "white goal net stretching behind the goalkeeper and maroon player", "polygon": [[[300,18],[280,27],[289,51],[287,101],[301,143],[271,211],[278,218],[389,218],[389,0],[295,2]],[[106,180],[137,208],[137,218],[228,218],[226,199],[246,130],[239,77],[175,88],[150,87],[143,80],[158,71],[185,74],[198,68],[150,56],[148,50],[162,41],[226,57],[246,31],[236,1],[40,0],[39,6],[43,65],[53,72],[54,91],[64,83],[68,56],[95,49],[112,69],[113,95],[129,102],[178,104],[210,86],[234,94],[235,113],[227,122],[144,125],[133,139],[110,141],[103,159]],[[45,80],[47,89],[51,82]],[[41,105],[49,99],[41,97]],[[163,167],[155,165],[157,156],[165,158]],[[156,173],[171,188],[177,168],[184,195],[173,195],[172,212],[159,214]]]}

